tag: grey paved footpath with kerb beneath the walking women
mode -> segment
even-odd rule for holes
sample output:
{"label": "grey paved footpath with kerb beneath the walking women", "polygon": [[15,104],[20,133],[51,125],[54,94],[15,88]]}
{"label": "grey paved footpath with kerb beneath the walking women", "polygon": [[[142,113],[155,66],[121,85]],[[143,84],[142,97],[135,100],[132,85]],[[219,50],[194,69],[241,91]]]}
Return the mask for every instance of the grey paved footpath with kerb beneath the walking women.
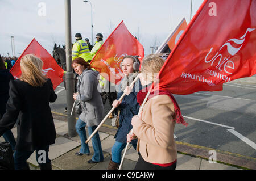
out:
{"label": "grey paved footpath with kerb beneath the walking women", "polygon": [[[100,163],[87,163],[92,158],[93,148],[92,142],[89,142],[90,155],[76,156],[75,153],[80,150],[81,140],[79,136],[68,137],[68,123],[64,115],[56,115],[56,142],[49,148],[49,159],[52,161],[53,170],[106,170],[111,158],[111,148],[114,144],[114,134],[117,129],[110,125],[103,124],[99,129],[102,150],[104,152],[104,161]],[[86,129],[87,130],[87,129]],[[16,138],[16,128],[12,129]],[[88,136],[88,133],[87,133]],[[0,138],[3,141],[3,138]],[[242,155],[229,155],[221,153],[217,150],[216,163],[212,161],[212,154],[209,154],[210,148],[203,148],[196,145],[185,144],[176,141],[178,155],[176,170],[240,170],[240,169],[256,169],[256,162],[253,158],[242,158]],[[122,170],[133,170],[138,160],[138,154],[135,149],[129,145]],[[224,157],[224,158],[222,158]],[[210,161],[208,160],[210,158]],[[233,162],[232,162],[233,160]],[[27,161],[30,168],[38,170],[39,166],[36,162],[35,153]],[[212,161],[214,162],[214,161]]]}

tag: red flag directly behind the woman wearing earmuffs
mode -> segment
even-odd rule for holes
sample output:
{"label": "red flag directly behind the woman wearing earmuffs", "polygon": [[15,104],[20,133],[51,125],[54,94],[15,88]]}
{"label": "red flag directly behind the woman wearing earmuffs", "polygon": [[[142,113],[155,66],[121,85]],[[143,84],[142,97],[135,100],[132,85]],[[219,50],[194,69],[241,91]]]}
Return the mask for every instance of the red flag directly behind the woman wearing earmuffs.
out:
{"label": "red flag directly behind the woman wearing earmuffs", "polygon": [[144,48],[122,21],[98,50],[91,65],[104,78],[118,84],[123,76],[120,63],[126,55],[139,56],[142,62]]}

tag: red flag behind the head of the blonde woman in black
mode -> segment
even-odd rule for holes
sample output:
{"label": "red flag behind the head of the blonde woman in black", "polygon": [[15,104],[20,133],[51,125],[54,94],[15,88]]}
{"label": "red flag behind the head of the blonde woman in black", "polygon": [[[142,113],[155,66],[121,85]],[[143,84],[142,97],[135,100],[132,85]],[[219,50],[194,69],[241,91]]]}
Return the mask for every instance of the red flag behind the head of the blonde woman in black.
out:
{"label": "red flag behind the head of the blonde woman in black", "polygon": [[55,89],[62,81],[63,77],[63,69],[56,63],[54,58],[44,49],[38,41],[33,39],[28,47],[24,50],[19,59],[15,62],[13,68],[11,68],[10,72],[13,74],[15,79],[19,78],[21,73],[20,70],[20,59],[26,54],[35,54],[35,56],[39,57],[43,62],[43,73],[46,74],[48,78],[51,79],[53,84],[53,89]]}

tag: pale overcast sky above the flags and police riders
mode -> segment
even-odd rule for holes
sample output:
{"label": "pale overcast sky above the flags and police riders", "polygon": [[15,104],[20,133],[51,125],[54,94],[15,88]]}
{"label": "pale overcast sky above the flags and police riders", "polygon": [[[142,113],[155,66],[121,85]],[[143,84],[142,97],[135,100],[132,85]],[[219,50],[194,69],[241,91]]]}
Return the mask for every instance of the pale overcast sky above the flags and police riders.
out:
{"label": "pale overcast sky above the flags and police riders", "polygon": [[[93,42],[96,33],[104,40],[123,20],[137,36],[144,53],[151,52],[154,40],[159,47],[177,24],[190,20],[191,0],[90,0],[93,12]],[[192,15],[203,0],[192,1]],[[44,9],[45,7],[45,9]],[[45,11],[44,11],[45,10]],[[45,12],[45,14],[44,14]],[[14,36],[15,53],[19,56],[35,37],[52,54],[55,43],[65,44],[64,0],[0,0],[0,54],[7,56]],[[72,43],[75,33],[91,41],[91,6],[83,0],[71,0]]]}

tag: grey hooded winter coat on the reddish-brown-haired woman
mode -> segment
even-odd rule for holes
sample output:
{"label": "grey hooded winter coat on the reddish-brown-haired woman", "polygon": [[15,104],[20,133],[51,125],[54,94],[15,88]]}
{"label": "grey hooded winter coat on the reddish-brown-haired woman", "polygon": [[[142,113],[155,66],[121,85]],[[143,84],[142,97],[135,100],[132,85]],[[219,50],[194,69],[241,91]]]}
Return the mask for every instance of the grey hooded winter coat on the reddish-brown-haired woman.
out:
{"label": "grey hooded winter coat on the reddish-brown-haired woman", "polygon": [[77,81],[79,95],[76,99],[80,100],[82,109],[79,118],[88,127],[99,125],[104,118],[104,106],[98,91],[98,74],[98,71],[85,69]]}

